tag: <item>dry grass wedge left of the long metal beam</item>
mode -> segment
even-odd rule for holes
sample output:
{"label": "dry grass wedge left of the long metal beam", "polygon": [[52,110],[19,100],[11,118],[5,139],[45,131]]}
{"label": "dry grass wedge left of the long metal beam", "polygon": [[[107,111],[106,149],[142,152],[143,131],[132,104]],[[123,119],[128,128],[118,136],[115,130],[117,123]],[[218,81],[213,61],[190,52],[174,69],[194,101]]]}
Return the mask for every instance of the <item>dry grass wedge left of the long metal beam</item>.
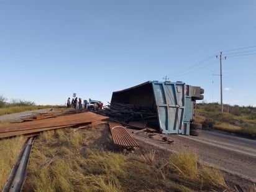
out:
{"label": "dry grass wedge left of the long metal beam", "polygon": [[9,178],[12,166],[16,162],[25,139],[15,137],[0,140],[0,189],[2,189]]}

